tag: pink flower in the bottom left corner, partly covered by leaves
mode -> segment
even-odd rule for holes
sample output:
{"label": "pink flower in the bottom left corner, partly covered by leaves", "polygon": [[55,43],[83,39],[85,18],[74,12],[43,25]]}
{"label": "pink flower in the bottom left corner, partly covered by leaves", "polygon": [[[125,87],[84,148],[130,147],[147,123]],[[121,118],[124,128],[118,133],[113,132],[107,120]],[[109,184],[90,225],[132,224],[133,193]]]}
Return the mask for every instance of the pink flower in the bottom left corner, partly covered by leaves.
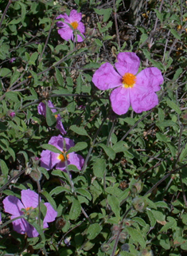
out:
{"label": "pink flower in the bottom left corner, partly covered by leaves", "polygon": [[[24,212],[21,209],[25,209],[26,215],[30,214],[30,211],[34,210],[38,206],[38,195],[30,189],[21,191],[21,201],[14,195],[6,196],[3,200],[4,209],[11,216],[11,219],[14,219],[18,216],[24,215]],[[43,227],[48,227],[48,223],[51,223],[55,220],[57,212],[53,209],[50,203],[44,203],[47,207],[47,212],[43,222]],[[37,230],[29,224],[25,219],[17,219],[13,222],[13,228],[19,234],[27,234],[29,238],[34,238],[38,236]]]}

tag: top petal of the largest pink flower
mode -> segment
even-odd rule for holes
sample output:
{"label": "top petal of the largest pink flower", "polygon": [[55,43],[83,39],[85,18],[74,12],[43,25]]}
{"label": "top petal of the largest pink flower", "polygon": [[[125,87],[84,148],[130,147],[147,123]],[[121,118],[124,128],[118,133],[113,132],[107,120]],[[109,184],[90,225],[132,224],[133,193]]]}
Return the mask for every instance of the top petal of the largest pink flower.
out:
{"label": "top petal of the largest pink flower", "polygon": [[123,77],[125,73],[138,73],[138,67],[140,60],[136,53],[119,53],[118,62],[115,63],[115,68],[119,74]]}

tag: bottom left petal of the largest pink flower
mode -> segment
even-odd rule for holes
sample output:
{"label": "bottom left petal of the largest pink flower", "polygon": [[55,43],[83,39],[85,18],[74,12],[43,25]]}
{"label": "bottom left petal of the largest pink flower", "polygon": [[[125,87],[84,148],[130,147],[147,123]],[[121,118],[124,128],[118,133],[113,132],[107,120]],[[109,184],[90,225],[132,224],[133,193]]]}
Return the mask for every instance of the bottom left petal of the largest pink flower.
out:
{"label": "bottom left petal of the largest pink flower", "polygon": [[123,86],[115,89],[110,96],[111,108],[118,115],[125,114],[130,107],[129,89]]}

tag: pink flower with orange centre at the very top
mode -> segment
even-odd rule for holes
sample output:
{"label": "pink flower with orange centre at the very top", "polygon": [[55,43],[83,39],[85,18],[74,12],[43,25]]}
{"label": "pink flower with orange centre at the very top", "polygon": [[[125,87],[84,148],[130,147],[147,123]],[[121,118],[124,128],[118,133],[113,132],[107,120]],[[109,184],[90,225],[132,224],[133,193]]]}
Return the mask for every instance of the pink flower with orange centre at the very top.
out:
{"label": "pink flower with orange centre at the very top", "polygon": [[[64,40],[68,41],[72,39],[73,41],[73,30],[70,26],[68,26],[68,24],[70,24],[74,30],[79,30],[84,36],[84,24],[83,22],[80,22],[82,18],[81,13],[78,14],[76,10],[71,10],[69,16],[67,14],[60,14],[56,19],[59,18],[64,18],[64,22],[56,22],[56,26],[60,27],[58,33]],[[84,41],[84,39],[77,34],[77,41]]]}

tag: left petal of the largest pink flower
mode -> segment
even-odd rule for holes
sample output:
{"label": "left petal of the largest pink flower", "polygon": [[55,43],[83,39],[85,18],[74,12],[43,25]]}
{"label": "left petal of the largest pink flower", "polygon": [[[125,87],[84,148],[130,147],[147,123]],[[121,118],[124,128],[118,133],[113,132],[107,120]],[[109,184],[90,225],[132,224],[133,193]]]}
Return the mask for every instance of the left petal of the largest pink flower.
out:
{"label": "left petal of the largest pink flower", "polygon": [[110,63],[104,63],[93,75],[92,82],[100,90],[107,90],[122,85],[122,77]]}

